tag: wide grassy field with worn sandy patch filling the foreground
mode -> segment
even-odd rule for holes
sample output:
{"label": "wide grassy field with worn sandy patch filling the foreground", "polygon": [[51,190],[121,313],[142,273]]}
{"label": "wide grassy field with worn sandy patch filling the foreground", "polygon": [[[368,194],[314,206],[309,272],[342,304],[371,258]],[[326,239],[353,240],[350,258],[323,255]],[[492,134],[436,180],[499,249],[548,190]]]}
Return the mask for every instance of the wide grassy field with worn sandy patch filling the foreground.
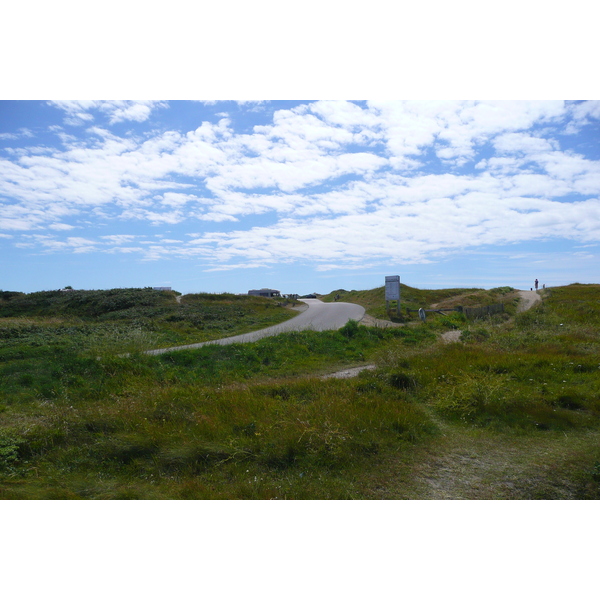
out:
{"label": "wide grassy field with worn sandy patch filling the foreground", "polygon": [[[505,288],[418,293],[424,307],[472,295],[514,307]],[[144,335],[189,341],[188,322],[169,320],[184,302],[157,296],[171,312],[112,319],[23,298],[11,313],[15,298],[0,305],[0,498],[600,499],[598,285],[546,290],[515,316],[350,322],[160,356],[139,352],[126,313]],[[129,338],[106,343],[105,326]],[[460,341],[444,343],[451,329]]]}

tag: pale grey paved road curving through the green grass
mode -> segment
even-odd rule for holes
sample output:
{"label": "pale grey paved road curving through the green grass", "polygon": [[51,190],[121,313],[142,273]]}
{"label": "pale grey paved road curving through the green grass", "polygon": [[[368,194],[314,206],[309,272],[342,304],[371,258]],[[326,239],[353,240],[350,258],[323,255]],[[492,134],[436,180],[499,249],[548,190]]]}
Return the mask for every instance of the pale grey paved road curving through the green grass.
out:
{"label": "pale grey paved road curving through the green grass", "polygon": [[360,321],[365,309],[358,304],[350,304],[349,302],[321,302],[320,300],[307,299],[302,300],[308,304],[308,308],[301,312],[297,317],[273,325],[266,329],[235,335],[233,337],[222,338],[220,340],[211,340],[209,342],[200,342],[198,344],[188,344],[186,346],[175,346],[173,348],[160,348],[159,350],[148,350],[146,354],[164,354],[165,352],[173,352],[174,350],[187,350],[190,348],[200,348],[208,344],[243,344],[247,342],[256,342],[264,337],[278,335],[286,331],[302,331],[304,329],[312,329],[314,331],[327,331],[331,329],[339,329],[343,327],[351,319]]}

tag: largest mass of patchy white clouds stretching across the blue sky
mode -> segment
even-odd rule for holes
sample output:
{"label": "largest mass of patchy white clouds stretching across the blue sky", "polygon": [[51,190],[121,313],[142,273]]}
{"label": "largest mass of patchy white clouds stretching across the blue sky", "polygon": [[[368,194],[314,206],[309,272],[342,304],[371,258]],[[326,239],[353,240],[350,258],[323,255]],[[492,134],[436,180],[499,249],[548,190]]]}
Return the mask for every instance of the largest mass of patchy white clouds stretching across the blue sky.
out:
{"label": "largest mass of patchy white clouds stretching across the blue sky", "polygon": [[[53,104],[87,129],[60,149],[0,158],[0,229],[55,232],[21,235],[27,247],[324,271],[552,236],[600,240],[600,163],[558,141],[569,119],[598,119],[598,103],[318,101],[245,133],[218,114],[139,137],[111,125],[165,104]],[[272,224],[249,219],[266,215]],[[197,231],[188,243],[57,237],[90,218]]]}

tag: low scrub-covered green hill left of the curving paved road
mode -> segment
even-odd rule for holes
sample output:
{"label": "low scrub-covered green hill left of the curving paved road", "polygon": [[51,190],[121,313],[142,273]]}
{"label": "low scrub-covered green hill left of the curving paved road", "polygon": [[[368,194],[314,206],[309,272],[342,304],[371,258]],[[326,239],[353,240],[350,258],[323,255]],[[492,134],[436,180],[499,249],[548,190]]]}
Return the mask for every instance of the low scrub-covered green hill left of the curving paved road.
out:
{"label": "low scrub-covered green hill left of the curving paved road", "polygon": [[152,288],[0,292],[0,340],[130,352],[247,333],[295,315],[274,299],[235,294],[181,296]]}

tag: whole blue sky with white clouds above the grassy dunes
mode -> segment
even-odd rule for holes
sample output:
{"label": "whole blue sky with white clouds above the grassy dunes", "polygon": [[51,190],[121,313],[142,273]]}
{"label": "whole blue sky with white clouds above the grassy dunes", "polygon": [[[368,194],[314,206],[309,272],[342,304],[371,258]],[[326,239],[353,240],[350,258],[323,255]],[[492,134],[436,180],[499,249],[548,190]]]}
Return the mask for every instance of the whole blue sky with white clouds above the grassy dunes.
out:
{"label": "whole blue sky with white clouds above the grassy dunes", "polygon": [[598,101],[0,102],[0,288],[598,282]]}

